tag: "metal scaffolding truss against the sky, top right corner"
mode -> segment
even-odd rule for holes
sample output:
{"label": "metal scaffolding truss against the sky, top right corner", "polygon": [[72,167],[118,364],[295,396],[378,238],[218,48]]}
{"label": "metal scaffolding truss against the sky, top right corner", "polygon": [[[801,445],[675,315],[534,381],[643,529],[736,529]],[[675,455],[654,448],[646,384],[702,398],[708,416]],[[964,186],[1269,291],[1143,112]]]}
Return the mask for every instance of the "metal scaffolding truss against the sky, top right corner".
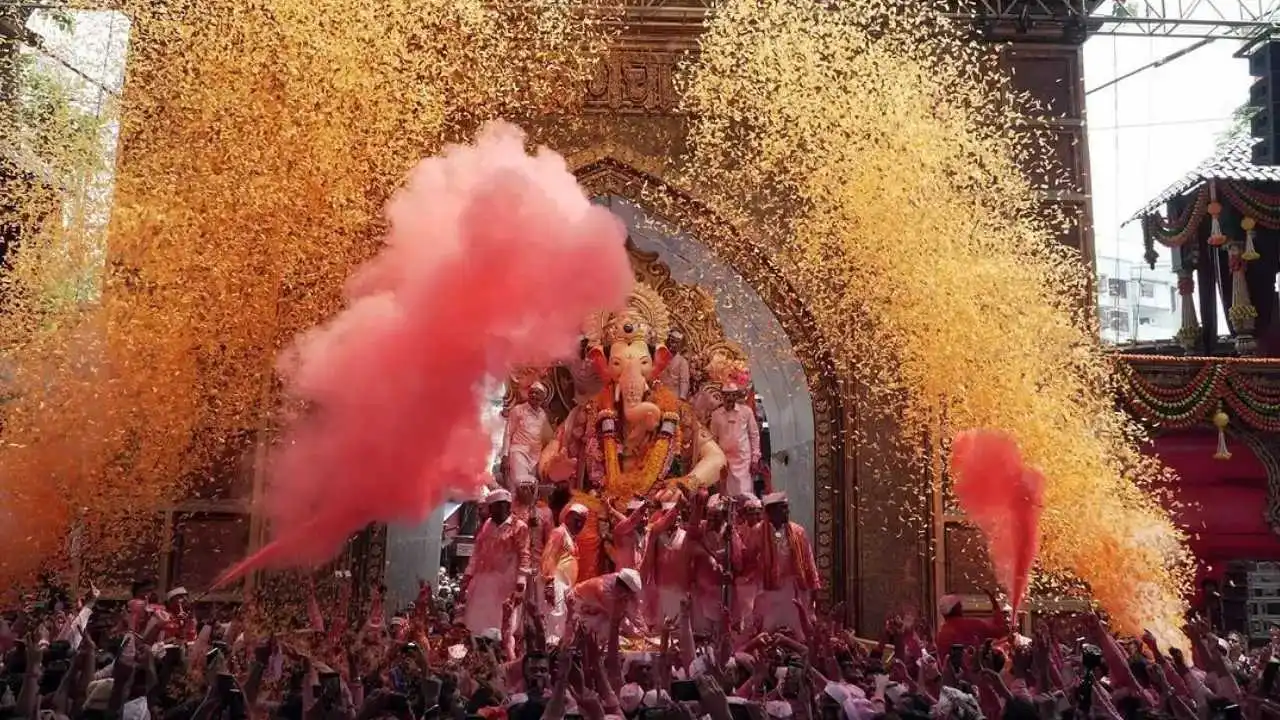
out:
{"label": "metal scaffolding truss against the sky, top right corner", "polygon": [[947,15],[1027,33],[1248,38],[1280,31],[1280,0],[965,0]]}

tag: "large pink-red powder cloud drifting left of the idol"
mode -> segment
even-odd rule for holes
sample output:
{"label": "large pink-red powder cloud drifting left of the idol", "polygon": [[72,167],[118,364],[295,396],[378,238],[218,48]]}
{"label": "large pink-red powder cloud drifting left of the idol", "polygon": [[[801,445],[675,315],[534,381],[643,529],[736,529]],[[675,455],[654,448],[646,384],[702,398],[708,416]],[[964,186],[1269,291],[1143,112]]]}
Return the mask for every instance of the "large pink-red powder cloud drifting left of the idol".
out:
{"label": "large pink-red powder cloud drifting left of the idol", "polygon": [[289,400],[306,411],[270,460],[274,539],[220,583],[323,562],[369,523],[417,523],[447,493],[477,491],[486,382],[571,356],[582,318],[625,302],[622,223],[563,158],[527,155],[524,141],[493,123],[424,160],[388,205],[385,247],[349,279],[347,307],[283,355]]}

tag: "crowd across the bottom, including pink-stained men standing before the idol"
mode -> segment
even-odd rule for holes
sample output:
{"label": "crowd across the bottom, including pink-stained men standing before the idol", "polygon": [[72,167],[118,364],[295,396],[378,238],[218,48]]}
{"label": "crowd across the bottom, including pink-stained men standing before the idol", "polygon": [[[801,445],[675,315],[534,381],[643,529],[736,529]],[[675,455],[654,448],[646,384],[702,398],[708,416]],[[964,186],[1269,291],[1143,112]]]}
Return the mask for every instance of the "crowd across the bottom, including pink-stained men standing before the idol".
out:
{"label": "crowd across the bottom, including pink-stained men standing before the idol", "polygon": [[[945,597],[936,628],[895,618],[864,639],[840,607],[815,607],[785,497],[763,512],[744,502],[741,518],[696,495],[639,502],[618,521],[635,542],[614,543],[618,564],[586,579],[570,574],[585,515],[573,505],[552,514],[490,493],[457,584],[422,583],[389,614],[375,591],[358,621],[349,582],[332,603],[311,592],[306,618],[274,633],[247,607],[206,616],[186,589],[147,583],[115,605],[96,589],[28,598],[0,624],[0,720],[1280,717],[1280,638],[1251,650],[1196,620],[1190,647],[1160,647],[1097,615],[1025,637],[996,597],[988,616]],[[499,543],[513,543],[509,557]],[[687,550],[684,585],[654,546]]]}

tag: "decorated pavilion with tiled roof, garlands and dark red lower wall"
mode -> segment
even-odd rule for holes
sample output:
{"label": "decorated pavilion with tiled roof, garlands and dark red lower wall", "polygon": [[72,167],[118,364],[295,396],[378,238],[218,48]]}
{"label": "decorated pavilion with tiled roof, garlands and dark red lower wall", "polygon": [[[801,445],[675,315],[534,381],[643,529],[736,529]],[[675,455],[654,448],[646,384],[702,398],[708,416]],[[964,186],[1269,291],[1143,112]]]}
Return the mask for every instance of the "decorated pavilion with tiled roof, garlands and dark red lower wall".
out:
{"label": "decorated pavilion with tiled roof, garlands and dark red lower wall", "polygon": [[1222,143],[1134,215],[1147,263],[1171,254],[1180,325],[1116,361],[1121,402],[1178,474],[1171,509],[1199,560],[1197,602],[1265,635],[1261,598],[1280,561],[1280,168],[1253,165],[1252,142]]}

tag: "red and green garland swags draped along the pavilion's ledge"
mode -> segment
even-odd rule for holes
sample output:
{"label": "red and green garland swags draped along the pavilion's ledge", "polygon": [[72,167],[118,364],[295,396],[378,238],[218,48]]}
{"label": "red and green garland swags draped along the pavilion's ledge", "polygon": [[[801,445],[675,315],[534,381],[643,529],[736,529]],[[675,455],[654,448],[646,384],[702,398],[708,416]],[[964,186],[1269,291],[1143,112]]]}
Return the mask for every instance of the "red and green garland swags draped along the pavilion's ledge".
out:
{"label": "red and green garland swags draped along the pavilion's ledge", "polygon": [[1239,364],[1206,360],[1181,387],[1151,383],[1125,360],[1117,366],[1125,405],[1143,420],[1162,428],[1206,423],[1221,405],[1251,428],[1280,430],[1280,389],[1262,387],[1242,373]]}

